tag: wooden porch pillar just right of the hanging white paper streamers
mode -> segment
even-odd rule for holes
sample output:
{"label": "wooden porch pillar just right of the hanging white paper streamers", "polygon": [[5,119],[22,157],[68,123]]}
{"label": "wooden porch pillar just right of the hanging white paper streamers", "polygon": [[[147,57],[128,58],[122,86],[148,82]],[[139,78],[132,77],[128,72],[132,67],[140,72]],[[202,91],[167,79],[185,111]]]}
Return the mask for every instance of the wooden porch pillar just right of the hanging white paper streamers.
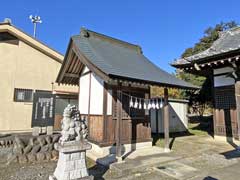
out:
{"label": "wooden porch pillar just right of the hanging white paper streamers", "polygon": [[164,150],[170,151],[169,148],[169,104],[168,89],[164,88]]}

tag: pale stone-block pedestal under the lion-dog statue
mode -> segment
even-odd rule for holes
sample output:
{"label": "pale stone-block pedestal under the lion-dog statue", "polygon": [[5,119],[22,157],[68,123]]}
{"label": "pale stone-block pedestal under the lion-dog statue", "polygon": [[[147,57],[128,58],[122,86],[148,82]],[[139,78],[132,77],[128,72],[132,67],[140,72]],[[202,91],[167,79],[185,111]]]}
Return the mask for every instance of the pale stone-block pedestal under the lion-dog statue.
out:
{"label": "pale stone-block pedestal under the lion-dog statue", "polygon": [[86,167],[86,150],[92,148],[87,141],[69,141],[57,144],[59,159],[53,176],[49,180],[93,179]]}

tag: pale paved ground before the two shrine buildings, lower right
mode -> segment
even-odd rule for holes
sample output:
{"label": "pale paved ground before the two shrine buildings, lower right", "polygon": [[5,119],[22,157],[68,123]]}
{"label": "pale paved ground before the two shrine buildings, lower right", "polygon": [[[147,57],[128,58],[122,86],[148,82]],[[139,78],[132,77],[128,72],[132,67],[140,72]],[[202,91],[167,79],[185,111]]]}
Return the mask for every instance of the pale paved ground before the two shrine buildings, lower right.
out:
{"label": "pale paved ground before the two shrine buildings, lower right", "polygon": [[107,171],[104,178],[238,180],[240,152],[209,136],[180,137],[173,142],[170,153],[126,159],[125,163]]}

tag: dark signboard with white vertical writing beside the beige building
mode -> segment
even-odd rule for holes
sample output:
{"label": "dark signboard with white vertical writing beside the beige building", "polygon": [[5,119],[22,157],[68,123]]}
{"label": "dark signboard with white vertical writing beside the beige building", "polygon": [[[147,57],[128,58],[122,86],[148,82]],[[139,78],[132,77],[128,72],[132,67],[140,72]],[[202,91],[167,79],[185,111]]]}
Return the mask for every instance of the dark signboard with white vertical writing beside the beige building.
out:
{"label": "dark signboard with white vertical writing beside the beige building", "polygon": [[56,95],[35,92],[33,96],[32,127],[54,125]]}

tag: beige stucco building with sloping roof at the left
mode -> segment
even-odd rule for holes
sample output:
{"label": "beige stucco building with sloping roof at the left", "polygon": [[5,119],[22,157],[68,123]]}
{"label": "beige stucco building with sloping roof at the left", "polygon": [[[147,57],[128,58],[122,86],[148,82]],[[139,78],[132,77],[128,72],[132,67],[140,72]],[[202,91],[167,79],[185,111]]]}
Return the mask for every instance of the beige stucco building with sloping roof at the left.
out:
{"label": "beige stucco building with sloping roof at the left", "polygon": [[55,82],[63,55],[11,25],[0,23],[0,133],[31,131],[36,91],[55,93],[55,128],[66,104],[77,102],[78,87]]}

